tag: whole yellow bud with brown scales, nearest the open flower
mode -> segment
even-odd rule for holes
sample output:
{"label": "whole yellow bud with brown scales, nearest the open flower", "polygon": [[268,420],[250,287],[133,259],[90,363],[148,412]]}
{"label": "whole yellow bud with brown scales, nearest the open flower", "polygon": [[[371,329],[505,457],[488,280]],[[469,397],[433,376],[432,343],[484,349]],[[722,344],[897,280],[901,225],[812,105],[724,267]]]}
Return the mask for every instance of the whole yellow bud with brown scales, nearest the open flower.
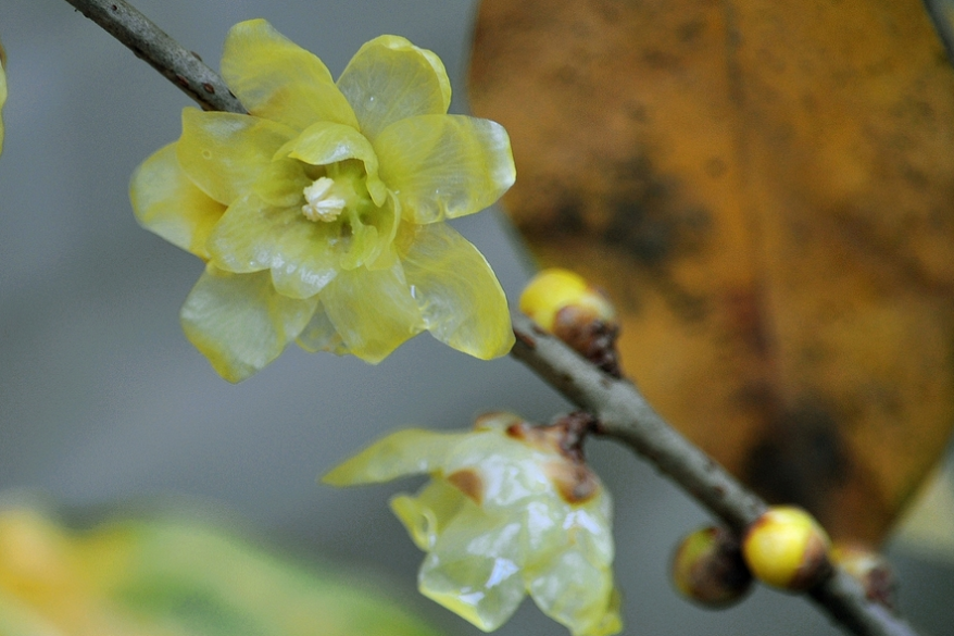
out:
{"label": "whole yellow bud with brown scales, nearest the open flower", "polygon": [[520,311],[577,353],[619,377],[616,311],[606,296],[581,276],[555,267],[543,270],[524,288]]}

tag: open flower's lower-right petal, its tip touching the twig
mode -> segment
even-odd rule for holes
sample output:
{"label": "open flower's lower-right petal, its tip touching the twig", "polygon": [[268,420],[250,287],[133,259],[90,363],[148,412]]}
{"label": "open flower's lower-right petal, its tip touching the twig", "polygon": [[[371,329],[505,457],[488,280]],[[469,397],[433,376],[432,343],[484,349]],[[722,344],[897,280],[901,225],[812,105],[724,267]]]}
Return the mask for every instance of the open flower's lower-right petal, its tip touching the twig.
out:
{"label": "open flower's lower-right petal, its tip touching the twig", "polygon": [[506,296],[484,255],[443,223],[409,232],[413,235],[401,237],[401,260],[426,328],[481,360],[510,351],[514,334]]}

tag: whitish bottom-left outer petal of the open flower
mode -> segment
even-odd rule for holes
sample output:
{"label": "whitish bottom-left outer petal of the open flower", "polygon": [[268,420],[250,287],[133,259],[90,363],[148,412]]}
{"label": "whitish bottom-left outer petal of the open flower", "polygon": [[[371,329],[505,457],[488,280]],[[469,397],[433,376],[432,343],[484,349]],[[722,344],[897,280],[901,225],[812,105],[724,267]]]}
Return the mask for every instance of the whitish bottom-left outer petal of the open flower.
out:
{"label": "whitish bottom-left outer petal of the open flower", "polygon": [[229,274],[209,265],[179,317],[186,336],[229,382],[278,357],[307,324],[316,299],[277,294],[266,272]]}

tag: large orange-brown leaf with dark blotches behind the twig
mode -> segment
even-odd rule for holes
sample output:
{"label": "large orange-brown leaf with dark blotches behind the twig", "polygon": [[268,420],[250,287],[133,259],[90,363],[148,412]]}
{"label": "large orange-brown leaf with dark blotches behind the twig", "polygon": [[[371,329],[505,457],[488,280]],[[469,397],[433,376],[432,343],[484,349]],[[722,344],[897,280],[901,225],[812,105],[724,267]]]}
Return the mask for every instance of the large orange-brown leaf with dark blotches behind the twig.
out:
{"label": "large orange-brown leaf with dark blotches behind the twig", "polygon": [[877,541],[954,422],[954,73],[918,0],[484,0],[477,114],[650,401]]}

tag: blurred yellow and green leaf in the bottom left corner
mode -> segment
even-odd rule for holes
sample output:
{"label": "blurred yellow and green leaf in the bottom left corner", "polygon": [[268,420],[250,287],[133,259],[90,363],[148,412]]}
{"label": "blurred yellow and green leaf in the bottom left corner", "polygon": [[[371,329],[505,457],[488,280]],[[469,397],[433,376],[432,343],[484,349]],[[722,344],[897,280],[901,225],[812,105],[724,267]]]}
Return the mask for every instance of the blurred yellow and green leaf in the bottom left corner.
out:
{"label": "blurred yellow and green leaf in the bottom left corner", "polygon": [[0,512],[0,636],[437,636],[337,572],[211,526],[125,521],[75,533]]}

